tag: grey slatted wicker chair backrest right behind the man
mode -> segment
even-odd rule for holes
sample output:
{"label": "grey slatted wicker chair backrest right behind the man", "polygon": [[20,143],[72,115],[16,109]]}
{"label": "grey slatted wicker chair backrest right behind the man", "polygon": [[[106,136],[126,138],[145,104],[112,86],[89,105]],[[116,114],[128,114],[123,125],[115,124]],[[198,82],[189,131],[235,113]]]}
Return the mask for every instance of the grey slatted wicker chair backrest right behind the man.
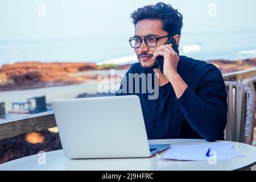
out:
{"label": "grey slatted wicker chair backrest right behind the man", "polygon": [[228,91],[228,114],[225,139],[251,144],[255,117],[255,91],[240,82],[225,81]]}

